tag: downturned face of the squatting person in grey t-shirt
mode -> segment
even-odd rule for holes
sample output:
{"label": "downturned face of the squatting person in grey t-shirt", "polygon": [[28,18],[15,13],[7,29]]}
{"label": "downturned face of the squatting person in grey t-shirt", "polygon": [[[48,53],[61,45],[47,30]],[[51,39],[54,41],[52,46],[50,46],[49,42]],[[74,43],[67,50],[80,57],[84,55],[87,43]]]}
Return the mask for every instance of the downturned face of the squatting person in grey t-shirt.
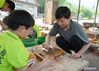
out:
{"label": "downturned face of the squatting person in grey t-shirt", "polygon": [[66,28],[69,24],[70,19],[66,19],[64,17],[62,17],[61,19],[57,19],[57,24],[61,27],[61,28]]}

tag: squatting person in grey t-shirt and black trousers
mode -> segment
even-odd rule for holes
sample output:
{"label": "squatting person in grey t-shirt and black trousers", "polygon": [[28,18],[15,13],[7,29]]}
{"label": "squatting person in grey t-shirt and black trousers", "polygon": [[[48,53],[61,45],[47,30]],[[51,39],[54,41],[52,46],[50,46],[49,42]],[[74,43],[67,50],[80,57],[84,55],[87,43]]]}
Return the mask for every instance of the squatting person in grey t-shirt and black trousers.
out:
{"label": "squatting person in grey t-shirt and black trousers", "polygon": [[68,53],[72,54],[72,58],[79,58],[89,47],[87,35],[83,28],[77,22],[70,19],[71,11],[66,6],[61,6],[55,13],[56,23],[50,30],[44,47],[50,45],[50,41],[57,34],[56,44]]}

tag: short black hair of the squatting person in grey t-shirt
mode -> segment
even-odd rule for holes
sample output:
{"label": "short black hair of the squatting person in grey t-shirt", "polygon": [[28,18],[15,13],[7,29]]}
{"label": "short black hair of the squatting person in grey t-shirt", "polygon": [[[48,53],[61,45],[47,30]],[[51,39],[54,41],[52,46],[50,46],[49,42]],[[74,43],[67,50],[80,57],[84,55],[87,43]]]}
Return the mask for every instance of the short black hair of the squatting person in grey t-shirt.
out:
{"label": "short black hair of the squatting person in grey t-shirt", "polygon": [[71,16],[71,11],[68,7],[66,6],[60,6],[57,8],[55,17],[56,19],[61,19],[62,17],[69,19]]}

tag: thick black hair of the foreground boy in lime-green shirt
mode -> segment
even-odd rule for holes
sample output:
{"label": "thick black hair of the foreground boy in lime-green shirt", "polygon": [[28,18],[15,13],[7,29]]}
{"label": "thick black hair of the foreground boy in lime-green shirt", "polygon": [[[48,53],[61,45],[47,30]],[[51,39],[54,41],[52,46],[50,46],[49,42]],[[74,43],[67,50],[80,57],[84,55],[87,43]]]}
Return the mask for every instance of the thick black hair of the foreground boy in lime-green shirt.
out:
{"label": "thick black hair of the foreground boy in lime-green shirt", "polygon": [[26,29],[32,27],[35,21],[33,17],[25,10],[15,10],[9,16],[6,25],[9,29],[17,30],[20,26]]}

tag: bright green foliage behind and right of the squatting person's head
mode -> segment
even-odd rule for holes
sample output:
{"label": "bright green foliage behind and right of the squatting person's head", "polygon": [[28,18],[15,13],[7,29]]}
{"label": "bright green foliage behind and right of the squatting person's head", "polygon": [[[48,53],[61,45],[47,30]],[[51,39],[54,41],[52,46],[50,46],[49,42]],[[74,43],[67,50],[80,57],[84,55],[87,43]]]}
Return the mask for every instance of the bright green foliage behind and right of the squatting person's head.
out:
{"label": "bright green foliage behind and right of the squatting person's head", "polygon": [[[69,3],[67,0],[57,0],[57,1],[58,1],[58,6],[69,7],[71,12],[72,12],[72,16],[77,17],[77,14],[78,14],[78,7],[77,6],[75,6],[72,3]],[[90,18],[92,18],[93,14],[94,14],[94,12],[92,12],[90,9],[88,9],[86,7],[81,7],[80,8],[80,16],[83,19],[90,19]]]}

